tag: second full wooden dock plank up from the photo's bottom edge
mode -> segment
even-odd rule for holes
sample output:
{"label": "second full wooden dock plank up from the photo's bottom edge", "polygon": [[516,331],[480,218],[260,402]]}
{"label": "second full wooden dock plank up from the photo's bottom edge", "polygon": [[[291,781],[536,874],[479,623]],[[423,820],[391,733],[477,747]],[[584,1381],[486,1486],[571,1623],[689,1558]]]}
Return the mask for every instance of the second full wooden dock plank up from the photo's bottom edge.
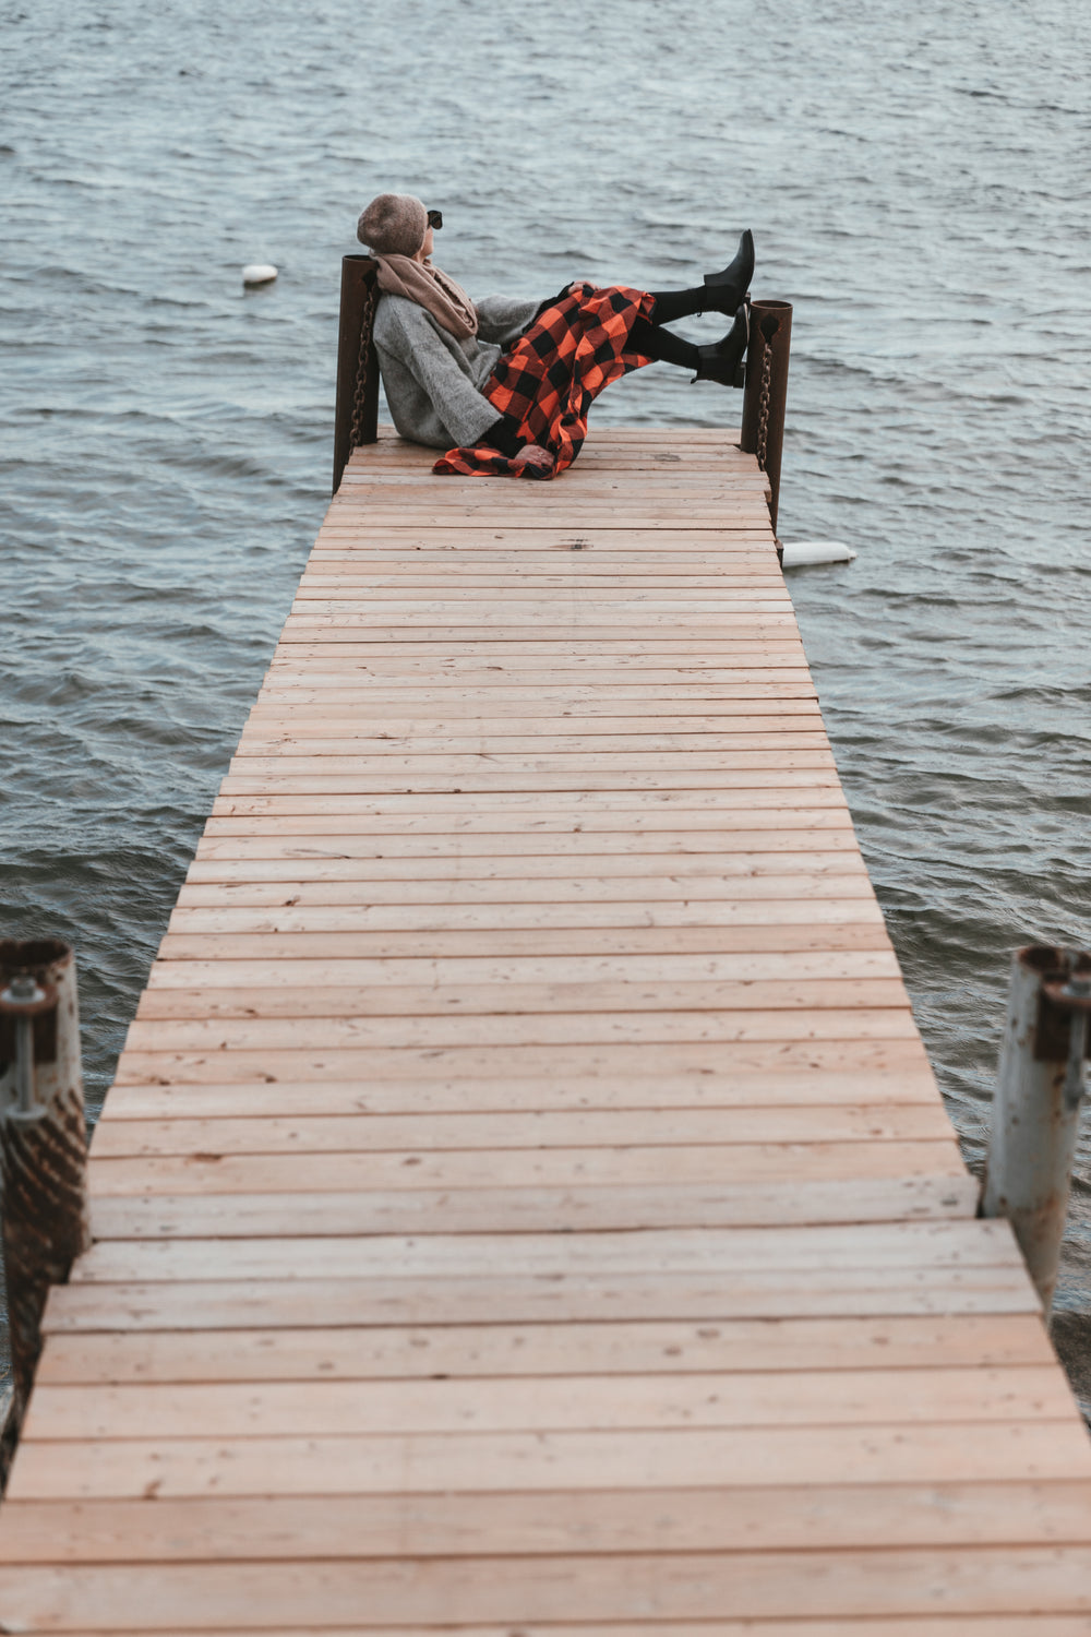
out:
{"label": "second full wooden dock plank up from the photo's bottom edge", "polygon": [[[1050,1545],[1081,1540],[1091,1485],[945,1483],[626,1490],[540,1495],[260,1496],[21,1501],[5,1509],[0,1563],[494,1557],[595,1552],[839,1550]],[[716,1626],[716,1632],[720,1632]],[[1037,1630],[1037,1626],[1034,1627]],[[643,1630],[643,1622],[641,1622]],[[810,1627],[808,1627],[810,1630]],[[855,1627],[854,1627],[855,1630]],[[919,1627],[918,1627],[919,1630]],[[990,1627],[993,1630],[993,1627]],[[568,1632],[568,1627],[566,1627]],[[595,1627],[597,1637],[608,1637]],[[502,1637],[510,1637],[505,1630]]]}

